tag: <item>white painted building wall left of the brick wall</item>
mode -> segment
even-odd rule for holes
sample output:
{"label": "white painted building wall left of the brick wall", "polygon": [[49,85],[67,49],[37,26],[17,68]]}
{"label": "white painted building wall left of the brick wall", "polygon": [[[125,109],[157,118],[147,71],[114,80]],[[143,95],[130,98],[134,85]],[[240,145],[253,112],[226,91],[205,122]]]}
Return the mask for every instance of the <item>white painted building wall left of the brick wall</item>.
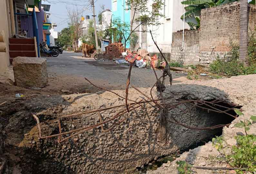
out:
{"label": "white painted building wall left of the brick wall", "polygon": [[[165,0],[165,5],[161,10],[164,17],[159,18],[159,22],[161,22],[162,25],[148,26],[148,30],[153,31],[153,38],[159,48],[162,49],[162,52],[171,53],[172,32],[183,29],[183,21],[180,18],[184,12],[184,6],[181,4],[182,1],[183,0]],[[151,11],[152,4],[153,0],[149,0],[148,8]],[[189,29],[190,27],[185,24],[185,28]],[[149,52],[159,52],[153,43],[150,33],[147,34],[147,44]]]}

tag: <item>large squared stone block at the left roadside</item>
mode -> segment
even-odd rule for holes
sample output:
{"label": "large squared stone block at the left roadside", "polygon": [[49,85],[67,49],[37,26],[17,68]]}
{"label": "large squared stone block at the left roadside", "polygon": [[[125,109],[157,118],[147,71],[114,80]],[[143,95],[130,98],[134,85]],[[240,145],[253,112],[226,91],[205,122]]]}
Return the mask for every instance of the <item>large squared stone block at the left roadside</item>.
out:
{"label": "large squared stone block at the left roadside", "polygon": [[45,58],[16,57],[13,60],[14,79],[20,87],[44,87],[48,83]]}

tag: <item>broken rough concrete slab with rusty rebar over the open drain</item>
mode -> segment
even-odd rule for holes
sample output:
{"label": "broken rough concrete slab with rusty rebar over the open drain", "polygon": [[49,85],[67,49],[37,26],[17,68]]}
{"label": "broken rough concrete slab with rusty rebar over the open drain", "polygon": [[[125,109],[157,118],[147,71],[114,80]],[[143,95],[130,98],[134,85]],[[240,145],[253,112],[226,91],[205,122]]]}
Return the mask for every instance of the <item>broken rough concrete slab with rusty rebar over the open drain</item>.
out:
{"label": "broken rough concrete slab with rusty rebar over the open drain", "polygon": [[[146,89],[141,90],[147,91]],[[115,92],[124,95],[124,91]],[[142,96],[136,94],[135,90],[131,89],[130,94],[132,93],[133,96],[129,97],[130,99],[136,101],[141,99]],[[146,94],[149,95],[148,92]],[[173,103],[178,99],[192,98],[226,100],[224,92],[211,87],[173,85],[171,89],[165,92],[166,97],[175,94],[177,94],[176,97],[168,100],[168,103]],[[153,95],[156,97],[156,94]],[[117,125],[112,131],[104,133],[98,127],[58,144],[56,138],[38,139],[36,122],[28,112],[36,113],[41,120],[43,135],[52,135],[58,128],[56,123],[48,123],[49,120],[71,113],[106,108],[122,103],[124,103],[123,99],[117,98],[110,92],[40,97],[26,100],[23,107],[11,117],[9,124],[5,127],[6,148],[9,149],[17,144],[19,150],[24,148],[33,149],[29,155],[19,152],[19,163],[22,164],[20,166],[29,171],[33,171],[33,168],[36,167],[39,173],[113,174],[135,169],[151,160],[156,160],[160,156],[186,149],[219,131],[216,129],[207,131],[187,130],[183,126],[168,122],[166,124],[166,140],[160,141],[158,133],[159,111],[150,104],[146,104],[144,105],[145,109],[137,109],[125,114],[126,120]],[[173,112],[177,114],[181,112],[180,109],[182,108],[181,106]],[[117,111],[118,109],[111,109],[101,112],[103,120],[113,116]],[[168,113],[168,117],[171,117],[171,114]],[[212,126],[219,124],[220,121],[218,117],[214,117],[214,115],[201,109],[193,110],[192,115],[191,126]],[[190,121],[189,114],[184,114],[182,117],[177,117],[177,119],[182,122]],[[199,120],[204,121],[198,125]],[[103,128],[107,129],[115,122],[105,124]],[[78,119],[70,118],[62,121],[62,131],[66,132],[95,123],[99,123],[96,113],[87,114],[86,117]],[[186,132],[184,132],[185,130]],[[8,151],[6,155],[8,156]],[[38,162],[27,162],[29,160],[34,161],[34,159],[37,159]]]}

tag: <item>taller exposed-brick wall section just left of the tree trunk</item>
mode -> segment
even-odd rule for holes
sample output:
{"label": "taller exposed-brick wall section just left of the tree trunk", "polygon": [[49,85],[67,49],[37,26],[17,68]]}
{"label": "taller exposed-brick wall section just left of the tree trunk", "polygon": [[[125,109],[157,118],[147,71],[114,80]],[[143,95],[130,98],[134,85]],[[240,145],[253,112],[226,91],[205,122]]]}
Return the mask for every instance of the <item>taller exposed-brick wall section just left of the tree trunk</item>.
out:
{"label": "taller exposed-brick wall section just left of the tree trunk", "polygon": [[200,51],[230,51],[230,39],[239,43],[240,2],[201,10]]}

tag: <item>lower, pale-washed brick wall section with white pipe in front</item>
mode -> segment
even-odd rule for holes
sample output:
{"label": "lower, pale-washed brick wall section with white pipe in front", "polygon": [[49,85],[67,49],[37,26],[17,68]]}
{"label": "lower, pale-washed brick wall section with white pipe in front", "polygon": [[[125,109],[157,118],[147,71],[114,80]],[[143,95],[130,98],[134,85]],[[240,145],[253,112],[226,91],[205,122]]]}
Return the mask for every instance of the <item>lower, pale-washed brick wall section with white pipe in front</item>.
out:
{"label": "lower, pale-washed brick wall section with white pipe in front", "polygon": [[172,33],[171,60],[183,62],[185,65],[199,64],[199,31],[186,30],[184,33],[184,48],[182,48],[182,31]]}

